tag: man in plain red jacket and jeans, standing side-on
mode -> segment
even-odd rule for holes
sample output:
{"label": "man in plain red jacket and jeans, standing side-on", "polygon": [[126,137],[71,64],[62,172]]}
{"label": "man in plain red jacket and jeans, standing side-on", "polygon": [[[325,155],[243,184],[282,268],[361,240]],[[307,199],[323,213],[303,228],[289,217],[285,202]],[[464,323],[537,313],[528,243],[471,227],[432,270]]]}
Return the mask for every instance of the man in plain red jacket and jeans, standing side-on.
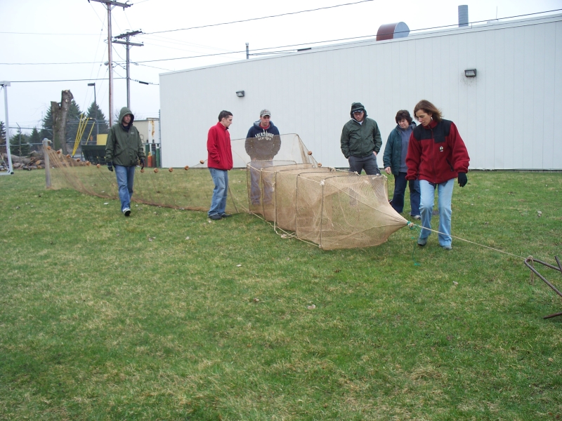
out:
{"label": "man in plain red jacket and jeans, standing side-on", "polygon": [[233,113],[221,111],[218,123],[209,128],[207,135],[207,166],[215,184],[213,199],[209,209],[211,220],[228,218],[226,213],[226,194],[228,192],[228,171],[233,168],[233,151],[230,147],[230,133],[228,127],[233,123]]}

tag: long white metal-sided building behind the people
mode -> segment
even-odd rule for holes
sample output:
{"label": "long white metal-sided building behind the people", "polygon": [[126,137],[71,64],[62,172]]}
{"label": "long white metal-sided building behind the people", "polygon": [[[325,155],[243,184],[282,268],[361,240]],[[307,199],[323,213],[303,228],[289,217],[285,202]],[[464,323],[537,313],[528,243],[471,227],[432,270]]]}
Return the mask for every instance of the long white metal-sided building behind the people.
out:
{"label": "long white metal-sided building behind the people", "polygon": [[379,123],[382,153],[396,112],[426,99],[457,124],[471,169],[562,170],[562,14],[165,73],[160,95],[163,166],[207,159],[221,109],[233,112],[237,139],[268,108],[317,161],[346,167],[339,139],[351,102]]}

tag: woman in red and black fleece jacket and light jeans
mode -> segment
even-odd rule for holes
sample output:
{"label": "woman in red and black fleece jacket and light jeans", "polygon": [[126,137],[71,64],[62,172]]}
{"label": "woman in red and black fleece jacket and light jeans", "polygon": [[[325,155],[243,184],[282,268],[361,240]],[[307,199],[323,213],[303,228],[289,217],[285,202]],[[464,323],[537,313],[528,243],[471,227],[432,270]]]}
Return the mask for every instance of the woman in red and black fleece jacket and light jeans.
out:
{"label": "woman in red and black fleece jacket and light jeans", "polygon": [[[419,180],[421,200],[421,232],[417,243],[425,246],[431,234],[431,215],[435,190],[438,192],[439,244],[451,250],[451,199],[455,178],[459,186],[466,185],[469,171],[469,152],[457,131],[455,123],[445,120],[431,102],[421,100],[414,107],[419,125],[410,136],[406,165],[406,180]],[[428,228],[428,229],[424,229]]]}

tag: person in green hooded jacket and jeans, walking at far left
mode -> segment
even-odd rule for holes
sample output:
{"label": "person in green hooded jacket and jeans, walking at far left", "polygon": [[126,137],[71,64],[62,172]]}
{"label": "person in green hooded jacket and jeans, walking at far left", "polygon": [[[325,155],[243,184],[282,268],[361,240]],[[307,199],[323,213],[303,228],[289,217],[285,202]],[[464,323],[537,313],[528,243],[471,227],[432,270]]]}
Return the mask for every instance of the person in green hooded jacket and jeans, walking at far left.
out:
{"label": "person in green hooded jacket and jeans, walking at far left", "polygon": [[133,126],[134,119],[131,110],[123,107],[119,113],[119,122],[115,123],[107,134],[105,145],[107,169],[113,171],[115,166],[121,211],[125,216],[131,215],[135,166],[141,161],[142,168],[145,168],[143,143],[137,128]]}

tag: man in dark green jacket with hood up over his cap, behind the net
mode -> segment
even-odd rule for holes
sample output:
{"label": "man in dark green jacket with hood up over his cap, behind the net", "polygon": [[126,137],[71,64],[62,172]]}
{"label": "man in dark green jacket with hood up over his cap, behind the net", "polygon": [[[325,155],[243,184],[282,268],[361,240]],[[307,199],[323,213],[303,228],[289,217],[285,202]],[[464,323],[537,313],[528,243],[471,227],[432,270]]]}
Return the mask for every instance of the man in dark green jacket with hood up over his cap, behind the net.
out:
{"label": "man in dark green jacket with hood up over his cap, behind the net", "polygon": [[367,119],[361,102],[351,104],[351,120],[341,131],[341,152],[349,161],[349,171],[367,175],[380,174],[377,154],[381,150],[381,131],[377,121]]}

